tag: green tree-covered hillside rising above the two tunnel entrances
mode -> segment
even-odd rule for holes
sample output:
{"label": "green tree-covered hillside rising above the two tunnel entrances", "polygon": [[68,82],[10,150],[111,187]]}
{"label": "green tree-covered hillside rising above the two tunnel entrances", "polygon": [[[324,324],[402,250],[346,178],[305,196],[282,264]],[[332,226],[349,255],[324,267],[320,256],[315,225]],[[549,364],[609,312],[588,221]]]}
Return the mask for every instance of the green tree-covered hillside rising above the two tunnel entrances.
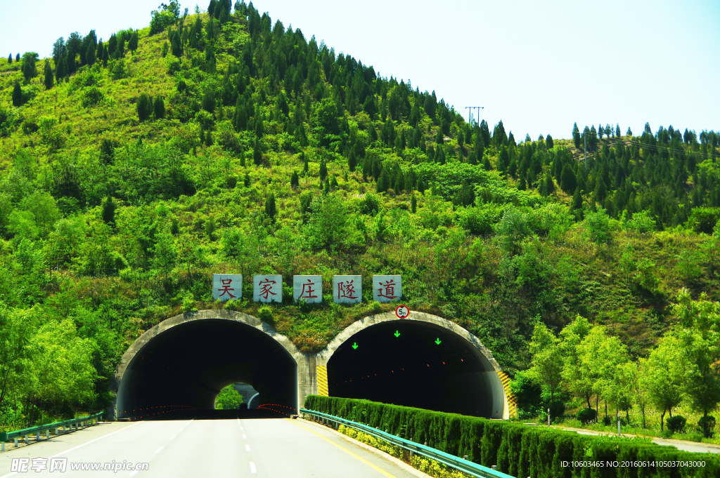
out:
{"label": "green tree-covered hillside rising above the two tunnel entrances", "polygon": [[[372,275],[456,321],[509,372],[538,318],[578,314],[644,357],[681,288],[718,300],[719,135],[595,127],[516,142],[252,4],[174,2],[107,41],[0,65],[1,423],[108,403],[123,351],[193,308],[261,316],[318,351],[369,313]],[[575,141],[577,139],[577,141]],[[286,302],[212,301],[212,272],[284,277]],[[292,304],[294,274],[364,277],[364,302]],[[84,395],[38,385],[17,336],[71,323]],[[48,325],[50,324],[50,325]],[[38,342],[40,343],[40,342]],[[68,344],[73,343],[68,341]],[[68,345],[69,346],[69,345]],[[58,389],[59,385],[58,385]],[[69,392],[68,392],[69,393]]]}

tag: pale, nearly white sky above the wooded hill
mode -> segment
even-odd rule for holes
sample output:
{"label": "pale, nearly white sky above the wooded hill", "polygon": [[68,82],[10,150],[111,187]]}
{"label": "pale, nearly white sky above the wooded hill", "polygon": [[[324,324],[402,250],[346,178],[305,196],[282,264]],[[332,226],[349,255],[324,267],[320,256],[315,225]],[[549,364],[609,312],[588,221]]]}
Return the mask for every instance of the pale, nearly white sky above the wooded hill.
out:
{"label": "pale, nearly white sky above the wooded hill", "polygon": [[[147,27],[161,0],[0,0],[0,58],[49,56],[58,37]],[[233,0],[234,2],[234,0]],[[207,2],[199,4],[207,9]],[[383,76],[483,106],[516,139],[572,125],[720,130],[720,1],[258,0]],[[181,3],[193,11],[195,3]],[[27,21],[25,21],[27,19]],[[6,58],[6,57],[5,57]]]}

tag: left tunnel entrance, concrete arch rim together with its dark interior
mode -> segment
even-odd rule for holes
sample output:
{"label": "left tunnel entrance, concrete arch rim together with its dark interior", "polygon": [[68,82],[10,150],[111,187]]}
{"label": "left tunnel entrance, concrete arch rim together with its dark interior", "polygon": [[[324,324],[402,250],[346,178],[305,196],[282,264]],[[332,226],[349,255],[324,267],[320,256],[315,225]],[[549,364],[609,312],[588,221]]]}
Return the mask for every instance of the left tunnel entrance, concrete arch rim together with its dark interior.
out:
{"label": "left tunnel entrance, concrete arch rim together with its dark interior", "polygon": [[217,392],[233,382],[253,385],[258,405],[297,410],[298,365],[304,369],[306,361],[292,341],[259,318],[225,310],[182,313],[145,331],[125,351],[109,412],[130,418],[129,410],[209,409]]}

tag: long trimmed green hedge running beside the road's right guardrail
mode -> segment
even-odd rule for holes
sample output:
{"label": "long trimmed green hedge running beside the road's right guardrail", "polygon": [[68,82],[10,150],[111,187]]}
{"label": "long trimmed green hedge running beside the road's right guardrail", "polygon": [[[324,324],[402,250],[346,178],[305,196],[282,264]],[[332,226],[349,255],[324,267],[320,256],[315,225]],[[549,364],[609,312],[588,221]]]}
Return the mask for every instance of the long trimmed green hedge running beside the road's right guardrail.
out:
{"label": "long trimmed green hedge running beside the road's right guardrail", "polygon": [[[428,446],[455,456],[467,455],[469,460],[484,466],[497,464],[500,471],[513,477],[720,477],[717,455],[679,451],[639,438],[580,435],[352,398],[309,395],[305,408],[365,423],[416,443],[427,442]],[[570,465],[562,466],[562,461]],[[573,461],[602,466],[572,466]],[[615,461],[618,466],[608,466]],[[624,461],[649,463],[623,466]],[[704,461],[705,466],[657,466],[658,461]]]}

